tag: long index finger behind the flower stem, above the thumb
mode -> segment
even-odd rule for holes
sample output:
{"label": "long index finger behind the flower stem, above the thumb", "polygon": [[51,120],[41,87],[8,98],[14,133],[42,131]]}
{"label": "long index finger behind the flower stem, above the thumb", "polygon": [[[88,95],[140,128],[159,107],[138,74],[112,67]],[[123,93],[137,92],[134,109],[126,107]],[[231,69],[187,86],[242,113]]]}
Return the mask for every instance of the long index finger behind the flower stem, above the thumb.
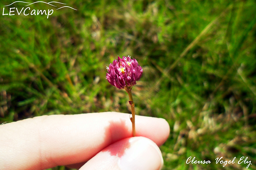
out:
{"label": "long index finger behind the flower stem, above the thumb", "polygon": [[[162,145],[164,119],[136,116],[136,136]],[[132,136],[129,114],[38,116],[0,126],[0,169],[47,169],[87,162],[106,146]]]}

